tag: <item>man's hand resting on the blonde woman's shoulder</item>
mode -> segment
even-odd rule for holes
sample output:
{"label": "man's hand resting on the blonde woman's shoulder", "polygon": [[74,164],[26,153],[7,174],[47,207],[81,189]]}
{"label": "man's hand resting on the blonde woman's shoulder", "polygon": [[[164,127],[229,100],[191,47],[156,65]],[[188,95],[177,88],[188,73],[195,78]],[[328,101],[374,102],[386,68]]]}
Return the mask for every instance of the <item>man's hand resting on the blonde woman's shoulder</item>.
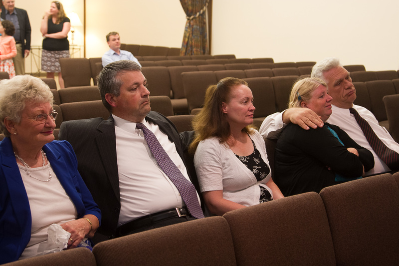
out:
{"label": "man's hand resting on the blonde woman's shoulder", "polygon": [[289,108],[283,113],[283,122],[294,123],[308,130],[323,127],[324,123],[314,111],[309,108]]}

